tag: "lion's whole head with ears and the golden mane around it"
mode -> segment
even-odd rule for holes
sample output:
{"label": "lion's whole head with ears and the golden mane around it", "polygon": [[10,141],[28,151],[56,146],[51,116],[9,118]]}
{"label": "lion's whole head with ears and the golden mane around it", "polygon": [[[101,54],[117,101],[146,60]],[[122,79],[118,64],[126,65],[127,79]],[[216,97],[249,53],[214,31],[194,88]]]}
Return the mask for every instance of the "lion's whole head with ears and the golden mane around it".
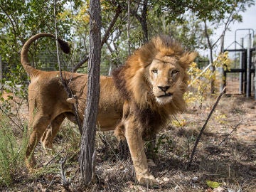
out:
{"label": "lion's whole head with ears and the golden mane around it", "polygon": [[156,36],[114,71],[115,85],[125,100],[135,102],[141,109],[151,107],[174,114],[186,107],[186,69],[196,55],[168,36]]}

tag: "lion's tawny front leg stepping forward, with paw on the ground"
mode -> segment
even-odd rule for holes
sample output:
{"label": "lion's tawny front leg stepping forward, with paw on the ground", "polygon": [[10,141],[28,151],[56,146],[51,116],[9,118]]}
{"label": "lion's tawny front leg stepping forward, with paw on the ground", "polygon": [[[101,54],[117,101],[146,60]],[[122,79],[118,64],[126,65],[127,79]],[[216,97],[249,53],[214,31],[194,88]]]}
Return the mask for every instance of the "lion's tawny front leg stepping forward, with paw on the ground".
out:
{"label": "lion's tawny front leg stepping forward, with paw on the ground", "polygon": [[142,133],[136,127],[133,119],[127,119],[124,123],[125,137],[129,146],[129,151],[132,156],[137,180],[140,184],[146,186],[153,186],[156,184],[154,176],[149,173],[148,164],[146,161],[146,154],[144,152],[144,143],[142,140]]}

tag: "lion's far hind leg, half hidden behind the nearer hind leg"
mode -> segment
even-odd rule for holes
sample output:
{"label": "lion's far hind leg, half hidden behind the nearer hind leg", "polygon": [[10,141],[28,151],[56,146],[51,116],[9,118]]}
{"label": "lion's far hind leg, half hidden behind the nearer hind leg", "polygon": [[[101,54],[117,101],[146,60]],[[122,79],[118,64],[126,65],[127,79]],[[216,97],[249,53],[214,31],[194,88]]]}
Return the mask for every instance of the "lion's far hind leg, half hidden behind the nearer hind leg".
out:
{"label": "lion's far hind leg, half hidden behind the nearer hind leg", "polygon": [[58,131],[60,130],[60,125],[63,123],[65,119],[65,114],[59,114],[53,121],[48,125],[46,131],[43,133],[41,137],[41,143],[43,144],[43,149],[48,151],[54,151],[53,149],[53,140],[55,139]]}

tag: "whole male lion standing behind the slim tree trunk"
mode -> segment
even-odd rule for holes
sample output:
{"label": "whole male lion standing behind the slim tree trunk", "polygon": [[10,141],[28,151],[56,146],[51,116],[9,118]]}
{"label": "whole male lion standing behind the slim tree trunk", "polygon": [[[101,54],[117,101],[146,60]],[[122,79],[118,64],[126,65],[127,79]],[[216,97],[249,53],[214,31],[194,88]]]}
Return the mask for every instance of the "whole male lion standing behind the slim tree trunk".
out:
{"label": "whole male lion standing behind the slim tree trunk", "polygon": [[[72,104],[60,82],[58,71],[44,72],[28,62],[28,48],[36,39],[53,35],[38,33],[26,41],[21,50],[21,63],[31,78],[28,87],[29,127],[31,136],[26,149],[26,166],[33,169],[33,149],[41,140],[52,148],[52,142],[63,119],[74,122]],[[65,42],[60,47],[68,53]],[[100,77],[100,102],[97,123],[102,131],[114,130],[118,139],[126,139],[139,183],[152,185],[143,139],[155,137],[166,126],[171,114],[184,109],[183,93],[188,75],[186,69],[196,53],[183,50],[168,36],[157,36],[129,56],[115,70],[113,77]],[[77,98],[82,122],[87,94],[87,75],[63,72],[70,90]]]}

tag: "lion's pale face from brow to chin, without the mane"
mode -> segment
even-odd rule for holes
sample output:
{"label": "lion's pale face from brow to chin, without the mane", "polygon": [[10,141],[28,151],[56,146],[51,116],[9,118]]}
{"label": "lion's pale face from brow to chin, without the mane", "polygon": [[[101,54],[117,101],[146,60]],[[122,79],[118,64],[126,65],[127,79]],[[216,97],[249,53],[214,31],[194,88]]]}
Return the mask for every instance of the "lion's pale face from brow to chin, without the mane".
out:
{"label": "lion's pale face from brow to chin, without the mane", "polygon": [[183,85],[184,70],[174,56],[156,57],[149,65],[149,82],[160,105],[171,102]]}

